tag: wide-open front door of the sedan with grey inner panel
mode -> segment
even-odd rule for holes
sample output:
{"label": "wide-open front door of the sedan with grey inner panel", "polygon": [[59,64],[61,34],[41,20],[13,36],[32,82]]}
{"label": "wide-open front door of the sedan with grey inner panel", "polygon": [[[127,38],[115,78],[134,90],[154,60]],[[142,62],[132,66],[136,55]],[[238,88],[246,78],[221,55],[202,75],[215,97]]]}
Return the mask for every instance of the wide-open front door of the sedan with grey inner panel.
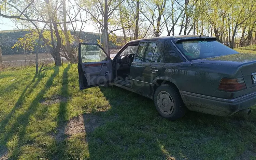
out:
{"label": "wide-open front door of the sedan with grey inner panel", "polygon": [[112,60],[100,45],[80,43],[78,51],[80,90],[104,85],[112,78]]}

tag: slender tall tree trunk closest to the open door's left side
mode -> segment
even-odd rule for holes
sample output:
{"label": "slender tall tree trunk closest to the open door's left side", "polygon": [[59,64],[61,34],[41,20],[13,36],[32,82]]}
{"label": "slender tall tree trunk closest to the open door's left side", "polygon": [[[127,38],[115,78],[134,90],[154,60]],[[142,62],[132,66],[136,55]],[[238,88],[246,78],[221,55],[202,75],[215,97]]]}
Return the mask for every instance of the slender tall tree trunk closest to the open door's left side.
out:
{"label": "slender tall tree trunk closest to the open door's left side", "polygon": [[68,30],[67,30],[67,16],[66,16],[66,0],[63,0],[63,30],[64,30],[64,34],[65,34],[65,40],[66,40],[66,44],[67,44],[67,54],[70,60],[70,63],[75,63],[75,59],[73,54],[71,53],[71,49],[70,49],[70,38],[69,38],[69,34],[68,34]]}

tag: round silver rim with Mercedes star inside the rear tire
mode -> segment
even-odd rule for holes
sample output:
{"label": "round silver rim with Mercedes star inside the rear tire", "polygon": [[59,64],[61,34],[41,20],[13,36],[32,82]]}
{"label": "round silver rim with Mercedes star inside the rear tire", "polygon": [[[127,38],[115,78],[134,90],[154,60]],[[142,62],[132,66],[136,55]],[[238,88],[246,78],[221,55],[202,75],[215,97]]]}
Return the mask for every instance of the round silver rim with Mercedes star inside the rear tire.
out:
{"label": "round silver rim with Mercedes star inside the rear tire", "polygon": [[163,114],[170,115],[174,109],[172,96],[166,91],[159,92],[157,95],[157,106]]}

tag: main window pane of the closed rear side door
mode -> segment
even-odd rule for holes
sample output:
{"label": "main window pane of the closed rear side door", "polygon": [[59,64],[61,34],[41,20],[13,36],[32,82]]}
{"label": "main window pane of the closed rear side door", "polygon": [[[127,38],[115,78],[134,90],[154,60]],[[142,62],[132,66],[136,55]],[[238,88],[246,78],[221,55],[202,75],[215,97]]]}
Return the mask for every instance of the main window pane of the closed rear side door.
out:
{"label": "main window pane of the closed rear side door", "polygon": [[155,47],[155,42],[140,43],[135,62],[151,62]]}

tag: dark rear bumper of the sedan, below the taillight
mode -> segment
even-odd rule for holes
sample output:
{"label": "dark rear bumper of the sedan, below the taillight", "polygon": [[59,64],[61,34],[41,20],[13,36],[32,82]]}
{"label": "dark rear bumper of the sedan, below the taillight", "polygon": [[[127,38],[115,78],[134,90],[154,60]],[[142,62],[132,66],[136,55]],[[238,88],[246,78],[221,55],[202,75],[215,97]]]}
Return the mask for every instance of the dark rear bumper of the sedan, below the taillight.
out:
{"label": "dark rear bumper of the sedan, below the taillight", "polygon": [[230,116],[256,104],[256,92],[234,99],[216,98],[186,91],[180,91],[180,94],[189,110],[220,116]]}

